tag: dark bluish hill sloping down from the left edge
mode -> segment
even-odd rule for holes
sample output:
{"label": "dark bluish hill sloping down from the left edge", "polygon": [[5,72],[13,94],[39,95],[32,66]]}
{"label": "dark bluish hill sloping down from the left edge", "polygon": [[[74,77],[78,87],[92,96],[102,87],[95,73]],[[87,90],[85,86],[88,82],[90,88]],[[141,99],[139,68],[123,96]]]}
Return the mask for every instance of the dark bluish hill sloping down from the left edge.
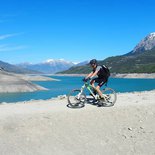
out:
{"label": "dark bluish hill sloping down from the left edge", "polygon": [[8,71],[8,72],[13,72],[13,73],[22,73],[22,74],[36,74],[39,73],[37,71],[33,71],[30,69],[24,69],[19,66],[15,66],[12,64],[9,64],[7,62],[0,61],[0,70]]}

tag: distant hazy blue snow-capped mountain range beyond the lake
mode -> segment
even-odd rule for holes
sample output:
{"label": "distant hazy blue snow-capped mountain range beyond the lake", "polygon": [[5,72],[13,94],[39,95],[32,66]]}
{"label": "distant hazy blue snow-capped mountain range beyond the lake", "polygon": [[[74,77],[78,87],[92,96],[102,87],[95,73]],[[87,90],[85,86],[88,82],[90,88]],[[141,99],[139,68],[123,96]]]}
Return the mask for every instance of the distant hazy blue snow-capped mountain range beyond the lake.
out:
{"label": "distant hazy blue snow-capped mountain range beyond the lake", "polygon": [[75,65],[74,63],[65,61],[63,59],[59,60],[49,59],[46,60],[45,62],[38,64],[22,63],[18,64],[17,66],[20,66],[25,69],[36,70],[46,74],[54,74],[56,72],[67,70],[74,65]]}

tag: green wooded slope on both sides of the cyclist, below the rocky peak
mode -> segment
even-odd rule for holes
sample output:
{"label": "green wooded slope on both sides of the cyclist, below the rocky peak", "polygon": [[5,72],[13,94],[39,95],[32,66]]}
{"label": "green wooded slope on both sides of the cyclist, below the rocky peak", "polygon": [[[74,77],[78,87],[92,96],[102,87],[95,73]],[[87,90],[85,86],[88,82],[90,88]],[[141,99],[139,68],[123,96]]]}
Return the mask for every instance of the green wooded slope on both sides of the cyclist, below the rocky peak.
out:
{"label": "green wooded slope on both sides of the cyclist, below the rocky peak", "polygon": [[[99,64],[107,65],[111,73],[155,73],[155,48],[149,51],[109,57]],[[61,74],[86,74],[91,71],[89,65],[71,67]]]}

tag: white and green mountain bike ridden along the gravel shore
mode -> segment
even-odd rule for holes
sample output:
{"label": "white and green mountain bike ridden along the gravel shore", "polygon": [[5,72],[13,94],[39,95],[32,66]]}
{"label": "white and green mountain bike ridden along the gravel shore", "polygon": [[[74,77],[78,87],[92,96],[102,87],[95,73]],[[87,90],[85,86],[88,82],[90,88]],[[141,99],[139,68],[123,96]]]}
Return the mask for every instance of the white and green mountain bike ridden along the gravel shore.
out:
{"label": "white and green mountain bike ridden along the gravel shore", "polygon": [[116,92],[109,87],[106,87],[102,90],[103,98],[101,99],[98,94],[94,94],[95,88],[90,84],[90,81],[87,81],[84,82],[84,85],[81,87],[81,89],[73,89],[68,94],[68,107],[82,108],[85,106],[85,103],[89,100],[89,98],[84,93],[84,89],[87,89],[90,95],[93,97],[93,103],[99,106],[110,107],[113,106],[117,100]]}

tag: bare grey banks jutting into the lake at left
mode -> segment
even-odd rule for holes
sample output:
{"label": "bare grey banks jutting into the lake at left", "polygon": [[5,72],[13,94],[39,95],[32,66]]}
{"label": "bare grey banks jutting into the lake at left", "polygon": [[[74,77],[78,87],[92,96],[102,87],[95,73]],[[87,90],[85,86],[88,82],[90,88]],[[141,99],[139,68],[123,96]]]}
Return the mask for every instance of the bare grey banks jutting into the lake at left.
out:
{"label": "bare grey banks jutting into the lake at left", "polygon": [[31,81],[56,80],[40,75],[15,74],[6,71],[0,71],[0,77],[0,93],[34,92],[39,90],[48,90],[47,88],[34,84]]}

